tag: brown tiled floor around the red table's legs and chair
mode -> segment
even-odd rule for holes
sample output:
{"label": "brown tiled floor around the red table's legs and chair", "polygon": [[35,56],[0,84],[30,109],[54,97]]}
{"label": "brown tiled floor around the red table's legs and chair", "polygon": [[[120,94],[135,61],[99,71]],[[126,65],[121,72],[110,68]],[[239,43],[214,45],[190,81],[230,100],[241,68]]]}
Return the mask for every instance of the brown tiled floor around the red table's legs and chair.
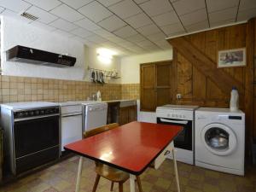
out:
{"label": "brown tiled floor around the red table's legs and chair", "polygon": [[[84,160],[81,192],[92,189],[96,174],[94,162]],[[44,171],[20,178],[15,183],[0,188],[1,192],[73,192],[75,189],[78,157],[64,160]],[[143,192],[173,192],[176,183],[173,175],[172,160],[166,160],[159,170],[148,169],[141,175]],[[178,163],[182,192],[256,192],[256,168],[247,170],[246,177],[222,172],[213,172],[197,166]],[[125,183],[129,191],[129,182]],[[110,191],[110,183],[101,179],[97,192]],[[117,184],[114,191],[117,192]]]}

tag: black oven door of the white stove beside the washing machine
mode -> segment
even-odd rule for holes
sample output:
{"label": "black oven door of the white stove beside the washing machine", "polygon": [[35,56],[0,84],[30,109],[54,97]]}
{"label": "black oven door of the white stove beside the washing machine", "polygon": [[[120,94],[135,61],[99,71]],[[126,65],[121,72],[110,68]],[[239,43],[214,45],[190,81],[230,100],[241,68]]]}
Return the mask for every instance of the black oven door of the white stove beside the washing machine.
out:
{"label": "black oven door of the white stove beside the washing machine", "polygon": [[157,118],[157,123],[183,126],[183,131],[174,139],[174,147],[192,150],[192,120]]}

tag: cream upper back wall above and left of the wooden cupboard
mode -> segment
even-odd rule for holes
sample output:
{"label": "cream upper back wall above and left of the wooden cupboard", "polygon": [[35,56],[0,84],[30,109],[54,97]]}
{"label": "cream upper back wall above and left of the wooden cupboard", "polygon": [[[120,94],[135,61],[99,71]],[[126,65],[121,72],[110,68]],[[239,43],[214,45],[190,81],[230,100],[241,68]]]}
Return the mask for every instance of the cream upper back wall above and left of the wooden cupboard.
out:
{"label": "cream upper back wall above and left of the wooden cupboard", "polygon": [[140,64],[152,61],[172,60],[172,49],[143,55],[127,56],[121,59],[121,83],[138,84],[140,82]]}

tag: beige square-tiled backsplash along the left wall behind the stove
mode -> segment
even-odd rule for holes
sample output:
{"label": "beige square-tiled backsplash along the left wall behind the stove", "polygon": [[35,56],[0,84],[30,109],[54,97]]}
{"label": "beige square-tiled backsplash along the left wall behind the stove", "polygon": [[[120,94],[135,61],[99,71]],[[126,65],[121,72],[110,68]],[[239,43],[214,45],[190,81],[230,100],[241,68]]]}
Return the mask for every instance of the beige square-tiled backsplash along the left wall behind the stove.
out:
{"label": "beige square-tiled backsplash along the left wall behind the stove", "polygon": [[87,100],[97,90],[102,100],[122,98],[121,84],[94,84],[85,81],[0,76],[0,102],[66,102]]}

